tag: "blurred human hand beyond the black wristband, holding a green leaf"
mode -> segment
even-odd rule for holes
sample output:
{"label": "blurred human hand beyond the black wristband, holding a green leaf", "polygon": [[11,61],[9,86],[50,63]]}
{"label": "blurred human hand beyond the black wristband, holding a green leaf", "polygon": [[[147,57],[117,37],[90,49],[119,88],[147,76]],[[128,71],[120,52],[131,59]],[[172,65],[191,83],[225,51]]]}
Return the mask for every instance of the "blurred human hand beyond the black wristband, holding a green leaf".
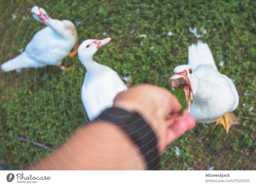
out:
{"label": "blurred human hand beyond the black wristband, holding a green leaf", "polygon": [[114,107],[136,111],[154,131],[158,140],[158,152],[196,125],[196,120],[184,111],[179,114],[180,103],[168,90],[154,85],[140,85],[119,93]]}

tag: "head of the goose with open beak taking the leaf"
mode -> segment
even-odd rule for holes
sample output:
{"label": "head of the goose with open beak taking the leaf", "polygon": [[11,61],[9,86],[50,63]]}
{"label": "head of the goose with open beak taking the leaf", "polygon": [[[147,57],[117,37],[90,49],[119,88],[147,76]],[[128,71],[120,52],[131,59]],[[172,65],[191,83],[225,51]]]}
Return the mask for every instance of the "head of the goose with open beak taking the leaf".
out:
{"label": "head of the goose with open beak taking the leaf", "polygon": [[173,70],[173,76],[169,78],[169,84],[173,88],[180,87],[186,94],[187,108],[190,111],[191,104],[198,90],[198,80],[189,65],[180,65]]}

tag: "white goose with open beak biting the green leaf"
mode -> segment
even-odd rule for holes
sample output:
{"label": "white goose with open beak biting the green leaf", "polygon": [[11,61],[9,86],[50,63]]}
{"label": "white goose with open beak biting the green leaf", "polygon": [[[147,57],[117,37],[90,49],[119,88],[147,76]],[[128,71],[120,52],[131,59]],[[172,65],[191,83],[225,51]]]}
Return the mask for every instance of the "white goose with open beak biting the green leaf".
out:
{"label": "white goose with open beak biting the green leaf", "polygon": [[197,45],[189,46],[188,65],[177,66],[173,74],[169,84],[174,88],[183,88],[189,114],[197,122],[217,121],[227,132],[231,125],[238,124],[236,116],[231,113],[239,103],[236,87],[226,75],[218,71],[206,43],[199,41]]}

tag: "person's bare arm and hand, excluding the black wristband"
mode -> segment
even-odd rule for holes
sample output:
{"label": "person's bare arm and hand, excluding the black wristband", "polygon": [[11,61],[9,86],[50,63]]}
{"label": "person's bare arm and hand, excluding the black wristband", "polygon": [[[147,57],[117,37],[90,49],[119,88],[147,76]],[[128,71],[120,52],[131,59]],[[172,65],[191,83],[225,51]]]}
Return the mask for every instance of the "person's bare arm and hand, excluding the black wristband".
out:
{"label": "person's bare arm and hand, excluding the black wristband", "polygon": [[[153,85],[135,86],[119,93],[114,107],[143,116],[157,140],[163,141],[159,153],[196,123],[187,112],[179,115],[180,104],[169,91]],[[140,155],[138,146],[115,123],[94,121],[78,129],[57,152],[29,169],[145,170],[146,160],[138,159]]]}

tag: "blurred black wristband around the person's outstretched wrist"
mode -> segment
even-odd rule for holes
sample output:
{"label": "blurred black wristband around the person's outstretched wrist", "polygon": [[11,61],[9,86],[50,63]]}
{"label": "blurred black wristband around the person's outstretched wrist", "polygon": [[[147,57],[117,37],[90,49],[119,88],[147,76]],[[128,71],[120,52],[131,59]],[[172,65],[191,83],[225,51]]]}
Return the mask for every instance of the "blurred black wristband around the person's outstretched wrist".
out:
{"label": "blurred black wristband around the person's outstretched wrist", "polygon": [[[147,122],[137,113],[129,113],[120,108],[108,108],[95,120],[107,120],[121,127],[135,142],[142,155],[136,160],[145,158],[148,170],[154,170],[159,163],[156,135]],[[95,121],[94,120],[94,121]]]}

